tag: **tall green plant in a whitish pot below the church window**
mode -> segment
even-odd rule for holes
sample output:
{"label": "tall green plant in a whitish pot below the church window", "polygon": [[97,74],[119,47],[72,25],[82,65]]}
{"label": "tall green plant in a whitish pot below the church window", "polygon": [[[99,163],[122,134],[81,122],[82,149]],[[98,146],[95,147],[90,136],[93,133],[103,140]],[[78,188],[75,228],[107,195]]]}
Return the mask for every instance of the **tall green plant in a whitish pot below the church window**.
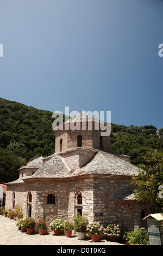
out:
{"label": "tall green plant in a whitish pot below the church window", "polygon": [[78,233],[79,240],[84,240],[87,224],[88,221],[86,217],[83,217],[80,214],[77,214],[77,216],[74,217],[74,229]]}

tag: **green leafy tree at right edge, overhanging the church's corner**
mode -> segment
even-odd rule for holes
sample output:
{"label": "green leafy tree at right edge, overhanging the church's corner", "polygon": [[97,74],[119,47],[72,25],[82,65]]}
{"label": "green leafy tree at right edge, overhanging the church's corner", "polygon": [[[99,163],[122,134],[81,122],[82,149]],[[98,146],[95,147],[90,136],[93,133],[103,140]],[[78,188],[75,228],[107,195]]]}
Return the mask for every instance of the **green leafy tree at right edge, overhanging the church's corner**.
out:
{"label": "green leafy tree at right edge, overhanging the church's corner", "polygon": [[148,151],[143,156],[144,164],[140,165],[139,174],[131,179],[138,188],[134,190],[137,200],[150,201],[152,212],[161,211],[163,205],[159,187],[163,185],[163,154],[157,150]]}

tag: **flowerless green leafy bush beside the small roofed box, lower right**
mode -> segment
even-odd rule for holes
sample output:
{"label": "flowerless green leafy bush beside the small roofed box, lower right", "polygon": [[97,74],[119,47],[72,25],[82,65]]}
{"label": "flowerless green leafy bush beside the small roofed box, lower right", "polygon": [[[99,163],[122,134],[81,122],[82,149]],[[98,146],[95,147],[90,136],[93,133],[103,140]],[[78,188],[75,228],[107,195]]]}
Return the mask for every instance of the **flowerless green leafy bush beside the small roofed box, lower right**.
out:
{"label": "flowerless green leafy bush beside the small roofed box, lower right", "polygon": [[133,245],[147,245],[148,232],[145,228],[137,228],[129,233],[128,242]]}

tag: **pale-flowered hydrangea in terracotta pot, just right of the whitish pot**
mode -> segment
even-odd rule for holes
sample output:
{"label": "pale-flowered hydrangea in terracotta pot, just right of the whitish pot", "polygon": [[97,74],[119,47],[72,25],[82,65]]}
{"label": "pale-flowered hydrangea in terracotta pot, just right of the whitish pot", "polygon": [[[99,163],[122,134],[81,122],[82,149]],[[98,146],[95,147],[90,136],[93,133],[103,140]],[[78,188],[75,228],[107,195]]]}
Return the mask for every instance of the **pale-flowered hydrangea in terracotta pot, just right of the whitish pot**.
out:
{"label": "pale-flowered hydrangea in terracotta pot, just right of the whitish pot", "polygon": [[87,236],[91,236],[93,242],[100,241],[100,235],[103,233],[103,226],[99,222],[91,222],[87,224],[86,231]]}

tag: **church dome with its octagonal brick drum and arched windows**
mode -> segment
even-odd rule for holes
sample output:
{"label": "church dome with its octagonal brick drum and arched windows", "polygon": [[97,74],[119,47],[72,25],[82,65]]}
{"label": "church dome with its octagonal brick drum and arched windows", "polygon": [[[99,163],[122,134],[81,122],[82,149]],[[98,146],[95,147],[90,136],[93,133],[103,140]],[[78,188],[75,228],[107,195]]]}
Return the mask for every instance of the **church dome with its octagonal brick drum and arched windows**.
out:
{"label": "church dome with its octagonal brick drum and arched windows", "polygon": [[110,132],[104,130],[111,131],[111,126],[95,116],[85,112],[74,115],[54,129],[55,153],[76,147],[110,151]]}

